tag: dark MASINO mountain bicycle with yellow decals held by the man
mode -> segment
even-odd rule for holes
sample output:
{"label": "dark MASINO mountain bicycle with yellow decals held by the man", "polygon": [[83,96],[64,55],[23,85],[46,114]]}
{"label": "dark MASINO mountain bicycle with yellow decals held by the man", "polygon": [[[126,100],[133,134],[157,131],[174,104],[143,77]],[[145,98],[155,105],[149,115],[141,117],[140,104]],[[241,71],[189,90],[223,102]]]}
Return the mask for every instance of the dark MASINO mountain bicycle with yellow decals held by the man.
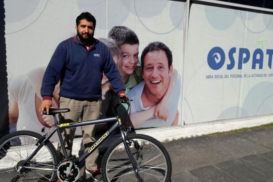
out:
{"label": "dark MASINO mountain bicycle with yellow decals held by the man", "polygon": [[[32,131],[17,131],[0,139],[0,181],[56,181],[74,182],[79,178],[78,166],[116,131],[121,138],[116,140],[104,154],[101,173],[104,181],[169,181],[172,164],[167,150],[155,138],[144,134],[129,134],[131,127],[125,128],[117,112],[121,103],[130,108],[130,99],[121,98],[114,104],[115,117],[59,124],[56,114],[69,109],[50,108],[55,128],[41,135]],[[46,111],[44,111],[46,114]],[[76,158],[67,156],[60,161],[56,148],[50,142],[57,132],[62,141],[61,128],[80,127],[91,124],[110,123],[113,125],[94,143],[88,151]],[[64,149],[64,144],[62,148]]]}

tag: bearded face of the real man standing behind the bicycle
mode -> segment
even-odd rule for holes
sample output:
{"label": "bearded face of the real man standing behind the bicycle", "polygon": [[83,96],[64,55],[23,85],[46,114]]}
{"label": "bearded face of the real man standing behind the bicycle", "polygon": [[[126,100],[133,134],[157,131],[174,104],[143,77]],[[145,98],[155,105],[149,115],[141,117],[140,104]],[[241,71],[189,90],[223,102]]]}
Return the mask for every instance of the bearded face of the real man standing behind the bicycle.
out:
{"label": "bearded face of the real man standing behind the bicycle", "polygon": [[78,38],[81,42],[90,42],[94,36],[93,22],[88,22],[86,19],[80,20],[80,23],[76,24],[76,30]]}

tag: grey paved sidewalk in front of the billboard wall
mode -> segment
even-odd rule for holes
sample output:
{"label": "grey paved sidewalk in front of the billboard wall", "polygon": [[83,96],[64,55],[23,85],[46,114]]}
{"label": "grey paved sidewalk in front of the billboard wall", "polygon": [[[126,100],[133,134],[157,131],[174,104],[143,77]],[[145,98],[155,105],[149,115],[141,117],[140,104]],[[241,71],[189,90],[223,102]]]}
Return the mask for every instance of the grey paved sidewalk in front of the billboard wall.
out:
{"label": "grey paved sidewalk in front of the billboard wall", "polygon": [[[273,127],[169,141],[164,146],[172,160],[173,182],[273,181]],[[78,181],[93,181],[83,166]]]}

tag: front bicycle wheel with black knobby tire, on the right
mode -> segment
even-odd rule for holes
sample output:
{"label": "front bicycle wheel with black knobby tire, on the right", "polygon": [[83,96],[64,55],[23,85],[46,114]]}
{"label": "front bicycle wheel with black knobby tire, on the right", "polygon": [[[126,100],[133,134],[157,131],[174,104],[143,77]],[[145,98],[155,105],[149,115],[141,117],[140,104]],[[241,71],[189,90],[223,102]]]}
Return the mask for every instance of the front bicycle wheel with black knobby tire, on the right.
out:
{"label": "front bicycle wheel with black knobby tire, on the right", "polygon": [[139,177],[136,177],[124,148],[122,139],[115,141],[106,151],[102,160],[104,181],[169,181],[172,164],[169,153],[155,138],[143,134],[126,137],[127,144],[136,160]]}

